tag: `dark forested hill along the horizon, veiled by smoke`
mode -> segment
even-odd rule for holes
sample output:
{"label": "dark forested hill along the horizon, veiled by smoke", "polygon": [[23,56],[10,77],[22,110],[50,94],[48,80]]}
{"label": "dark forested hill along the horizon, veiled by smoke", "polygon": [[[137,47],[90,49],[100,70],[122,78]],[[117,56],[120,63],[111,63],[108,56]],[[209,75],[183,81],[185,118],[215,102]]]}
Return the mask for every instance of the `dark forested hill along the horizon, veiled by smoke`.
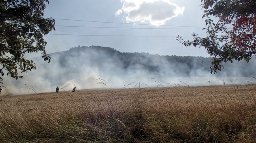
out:
{"label": "dark forested hill along the horizon, veiled by smoke", "polygon": [[[150,53],[121,53],[110,47],[102,46],[79,46],[70,48],[68,51],[53,53],[51,57],[59,56],[61,67],[90,65],[91,67],[110,67],[121,69],[143,69],[148,72],[161,72],[171,68],[176,74],[189,76],[191,71],[209,71],[211,66],[210,57],[176,56],[176,55],[152,55]],[[255,75],[255,61],[223,63],[223,72],[230,72],[234,76],[239,72],[241,76],[250,77]],[[221,71],[217,72],[219,75]]]}

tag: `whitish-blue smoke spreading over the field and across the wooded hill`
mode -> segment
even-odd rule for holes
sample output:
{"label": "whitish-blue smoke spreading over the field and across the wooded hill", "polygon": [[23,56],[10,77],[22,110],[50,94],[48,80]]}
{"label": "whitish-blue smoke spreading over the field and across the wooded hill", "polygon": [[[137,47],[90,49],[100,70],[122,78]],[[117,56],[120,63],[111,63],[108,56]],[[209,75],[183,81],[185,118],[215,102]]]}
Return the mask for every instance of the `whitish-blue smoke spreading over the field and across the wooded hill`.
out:
{"label": "whitish-blue smoke spreading over the field and across the wooded hill", "polygon": [[79,46],[50,55],[50,63],[34,58],[37,70],[23,74],[23,79],[5,76],[2,94],[53,92],[56,86],[67,91],[74,86],[138,88],[139,83],[141,87],[256,83],[252,78],[256,74],[255,60],[224,64],[222,71],[212,75],[211,58],[204,57],[121,53],[101,46]]}

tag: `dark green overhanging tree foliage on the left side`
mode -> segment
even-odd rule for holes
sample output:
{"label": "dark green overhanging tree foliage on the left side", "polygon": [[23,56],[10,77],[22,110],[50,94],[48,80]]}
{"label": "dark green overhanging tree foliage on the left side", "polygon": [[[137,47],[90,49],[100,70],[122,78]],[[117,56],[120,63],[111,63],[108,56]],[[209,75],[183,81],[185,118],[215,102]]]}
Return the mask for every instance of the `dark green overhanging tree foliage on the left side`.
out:
{"label": "dark green overhanging tree foliage on the left side", "polygon": [[[48,0],[0,0],[0,74],[17,79],[19,72],[36,69],[25,53],[42,51],[43,59],[50,62],[43,35],[55,30],[55,20],[43,18]],[[0,77],[0,83],[3,79]]]}

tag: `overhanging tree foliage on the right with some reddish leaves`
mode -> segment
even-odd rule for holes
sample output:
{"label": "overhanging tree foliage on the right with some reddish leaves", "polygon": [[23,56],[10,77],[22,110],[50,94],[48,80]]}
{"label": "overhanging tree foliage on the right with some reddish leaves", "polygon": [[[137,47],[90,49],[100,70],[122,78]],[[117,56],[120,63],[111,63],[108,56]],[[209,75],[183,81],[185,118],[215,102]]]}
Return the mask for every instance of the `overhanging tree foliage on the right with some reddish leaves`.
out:
{"label": "overhanging tree foliage on the right with some reddish leaves", "polygon": [[[249,62],[256,54],[255,0],[201,0],[207,36],[193,33],[193,40],[176,40],[184,46],[203,46],[213,56],[211,73],[221,71],[221,63],[233,59]],[[213,19],[218,19],[217,23]]]}

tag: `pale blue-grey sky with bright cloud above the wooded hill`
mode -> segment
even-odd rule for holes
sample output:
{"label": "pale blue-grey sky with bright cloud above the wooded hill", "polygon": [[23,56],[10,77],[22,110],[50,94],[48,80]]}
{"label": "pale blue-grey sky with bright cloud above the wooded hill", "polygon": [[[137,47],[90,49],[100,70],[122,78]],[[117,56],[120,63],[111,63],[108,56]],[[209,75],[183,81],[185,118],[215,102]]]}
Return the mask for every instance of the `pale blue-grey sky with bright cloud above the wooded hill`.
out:
{"label": "pale blue-grey sky with bright cloud above the wooded hill", "polygon": [[120,52],[209,57],[204,47],[185,47],[206,35],[200,0],[50,0],[44,17],[56,20],[56,31],[44,38],[54,53],[77,46],[106,46]]}

